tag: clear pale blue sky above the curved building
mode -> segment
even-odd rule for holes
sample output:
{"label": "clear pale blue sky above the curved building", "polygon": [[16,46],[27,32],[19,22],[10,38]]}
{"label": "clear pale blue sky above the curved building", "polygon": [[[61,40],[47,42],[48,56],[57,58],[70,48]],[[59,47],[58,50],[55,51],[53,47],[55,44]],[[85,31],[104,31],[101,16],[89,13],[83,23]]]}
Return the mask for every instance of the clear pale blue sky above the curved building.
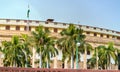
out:
{"label": "clear pale blue sky above the curved building", "polygon": [[120,0],[0,0],[0,18],[75,23],[120,31]]}

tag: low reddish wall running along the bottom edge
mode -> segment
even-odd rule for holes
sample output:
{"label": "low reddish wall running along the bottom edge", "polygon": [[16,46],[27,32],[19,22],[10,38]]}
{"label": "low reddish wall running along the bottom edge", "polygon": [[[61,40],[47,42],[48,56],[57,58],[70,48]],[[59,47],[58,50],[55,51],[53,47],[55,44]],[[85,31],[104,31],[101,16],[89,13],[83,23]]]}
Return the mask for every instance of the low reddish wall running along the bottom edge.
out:
{"label": "low reddish wall running along the bottom edge", "polygon": [[119,72],[119,70],[82,70],[82,69],[46,69],[0,67],[0,72]]}

